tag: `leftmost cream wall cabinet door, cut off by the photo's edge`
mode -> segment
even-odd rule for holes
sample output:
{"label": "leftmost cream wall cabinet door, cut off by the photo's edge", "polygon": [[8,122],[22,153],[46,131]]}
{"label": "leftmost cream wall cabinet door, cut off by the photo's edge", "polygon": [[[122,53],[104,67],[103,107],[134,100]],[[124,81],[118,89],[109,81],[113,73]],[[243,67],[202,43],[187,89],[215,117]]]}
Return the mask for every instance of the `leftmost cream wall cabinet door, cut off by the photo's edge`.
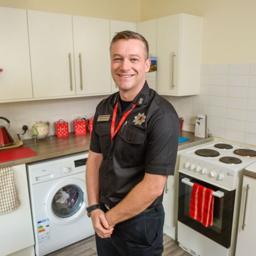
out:
{"label": "leftmost cream wall cabinet door, cut off by the photo's edge", "polygon": [[0,24],[0,100],[32,98],[26,10],[0,7]]}

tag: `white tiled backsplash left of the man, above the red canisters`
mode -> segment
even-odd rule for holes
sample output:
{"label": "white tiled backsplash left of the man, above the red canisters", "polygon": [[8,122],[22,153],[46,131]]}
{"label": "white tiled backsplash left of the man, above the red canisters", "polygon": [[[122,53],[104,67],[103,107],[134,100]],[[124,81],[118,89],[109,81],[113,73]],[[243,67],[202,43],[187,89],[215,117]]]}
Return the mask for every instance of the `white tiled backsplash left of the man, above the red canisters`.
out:
{"label": "white tiled backsplash left of the man, above the red canisters", "polygon": [[[0,116],[9,119],[11,123],[9,133],[12,137],[16,137],[17,133],[23,133],[23,125],[33,124],[38,121],[49,121],[50,133],[55,134],[54,122],[57,122],[59,119],[68,122],[70,132],[73,132],[73,119],[77,117],[84,117],[86,119],[92,117],[95,114],[97,104],[106,97],[107,95],[0,103]],[[3,121],[4,123],[6,122]],[[32,132],[27,131],[23,139],[30,138],[31,136]]]}

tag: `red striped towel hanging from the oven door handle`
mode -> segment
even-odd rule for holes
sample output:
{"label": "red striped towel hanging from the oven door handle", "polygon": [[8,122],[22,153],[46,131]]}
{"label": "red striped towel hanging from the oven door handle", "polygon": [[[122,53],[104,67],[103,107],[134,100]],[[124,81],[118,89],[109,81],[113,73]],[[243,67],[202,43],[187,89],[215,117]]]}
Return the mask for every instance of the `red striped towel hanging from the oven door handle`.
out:
{"label": "red striped towel hanging from the oven door handle", "polygon": [[205,227],[213,225],[213,190],[194,184],[190,199],[190,217],[203,223]]}

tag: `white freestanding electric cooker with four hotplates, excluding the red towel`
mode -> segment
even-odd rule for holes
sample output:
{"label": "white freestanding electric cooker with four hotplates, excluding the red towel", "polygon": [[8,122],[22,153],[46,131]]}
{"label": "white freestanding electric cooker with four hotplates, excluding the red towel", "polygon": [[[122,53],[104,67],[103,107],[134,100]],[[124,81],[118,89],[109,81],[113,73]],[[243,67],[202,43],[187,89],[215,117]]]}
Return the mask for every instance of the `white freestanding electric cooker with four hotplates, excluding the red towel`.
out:
{"label": "white freestanding electric cooker with four hotplates, excluding the red towel", "polygon": [[[192,255],[233,256],[242,169],[256,162],[256,148],[210,142],[180,155],[178,242]],[[193,184],[214,190],[213,226],[190,217]]]}

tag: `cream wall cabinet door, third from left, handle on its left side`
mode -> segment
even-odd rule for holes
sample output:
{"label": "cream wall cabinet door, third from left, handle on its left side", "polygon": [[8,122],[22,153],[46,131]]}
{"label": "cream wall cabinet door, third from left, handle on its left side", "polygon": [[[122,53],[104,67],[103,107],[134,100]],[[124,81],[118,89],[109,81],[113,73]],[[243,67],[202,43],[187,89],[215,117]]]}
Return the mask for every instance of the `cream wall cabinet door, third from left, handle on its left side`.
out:
{"label": "cream wall cabinet door, third from left, handle on its left side", "polygon": [[109,20],[73,16],[76,94],[111,92]]}

